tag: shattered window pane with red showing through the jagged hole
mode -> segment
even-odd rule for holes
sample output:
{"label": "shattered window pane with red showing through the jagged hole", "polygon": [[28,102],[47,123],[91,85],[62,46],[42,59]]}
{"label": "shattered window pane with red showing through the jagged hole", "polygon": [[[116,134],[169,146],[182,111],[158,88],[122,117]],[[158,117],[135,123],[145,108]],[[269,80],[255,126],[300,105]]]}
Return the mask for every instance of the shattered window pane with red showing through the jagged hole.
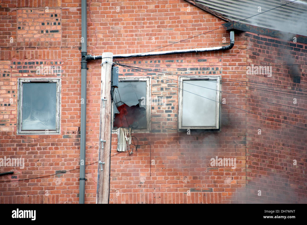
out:
{"label": "shattered window pane with red showing through the jagged hole", "polygon": [[122,81],[114,91],[113,127],[146,129],[146,81]]}

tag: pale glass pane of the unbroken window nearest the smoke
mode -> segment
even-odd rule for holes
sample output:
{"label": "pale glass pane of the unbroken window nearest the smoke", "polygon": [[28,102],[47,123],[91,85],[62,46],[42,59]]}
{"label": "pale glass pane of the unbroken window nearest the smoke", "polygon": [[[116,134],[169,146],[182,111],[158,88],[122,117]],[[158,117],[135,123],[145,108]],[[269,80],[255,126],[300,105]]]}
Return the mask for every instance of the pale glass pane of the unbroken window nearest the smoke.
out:
{"label": "pale glass pane of the unbroken window nearest the smoke", "polygon": [[183,81],[182,87],[182,126],[216,126],[216,80]]}

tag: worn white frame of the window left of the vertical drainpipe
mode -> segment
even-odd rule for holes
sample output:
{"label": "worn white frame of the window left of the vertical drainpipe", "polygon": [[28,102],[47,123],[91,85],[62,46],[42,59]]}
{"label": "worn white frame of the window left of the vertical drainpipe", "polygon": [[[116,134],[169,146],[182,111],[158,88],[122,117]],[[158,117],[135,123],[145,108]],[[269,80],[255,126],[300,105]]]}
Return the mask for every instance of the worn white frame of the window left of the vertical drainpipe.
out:
{"label": "worn white frame of the window left of the vertical drainpipe", "polygon": [[31,77],[31,78],[18,78],[17,85],[17,134],[19,135],[45,135],[46,131],[38,130],[21,130],[22,123],[22,92],[23,83],[46,82],[56,83],[56,130],[48,130],[48,134],[61,133],[61,78],[60,77]]}

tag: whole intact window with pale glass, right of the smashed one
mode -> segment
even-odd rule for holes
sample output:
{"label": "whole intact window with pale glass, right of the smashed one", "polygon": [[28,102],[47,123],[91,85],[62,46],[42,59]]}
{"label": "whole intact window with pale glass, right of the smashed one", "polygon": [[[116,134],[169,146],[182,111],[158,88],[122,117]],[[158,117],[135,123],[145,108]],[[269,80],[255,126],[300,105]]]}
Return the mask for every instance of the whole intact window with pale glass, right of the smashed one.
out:
{"label": "whole intact window with pale glass, right of the smashed one", "polygon": [[179,81],[178,129],[219,129],[220,76]]}

